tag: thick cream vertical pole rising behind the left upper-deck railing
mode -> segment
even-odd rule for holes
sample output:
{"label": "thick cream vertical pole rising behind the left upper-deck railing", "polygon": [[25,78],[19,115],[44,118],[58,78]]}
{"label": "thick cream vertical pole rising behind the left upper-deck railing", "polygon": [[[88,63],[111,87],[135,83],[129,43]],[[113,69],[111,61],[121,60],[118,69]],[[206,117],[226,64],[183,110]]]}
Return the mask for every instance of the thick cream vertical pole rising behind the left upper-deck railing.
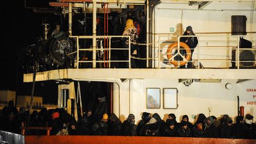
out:
{"label": "thick cream vertical pole rising behind the left upper-deck railing", "polygon": [[96,0],[92,2],[92,68],[96,68]]}

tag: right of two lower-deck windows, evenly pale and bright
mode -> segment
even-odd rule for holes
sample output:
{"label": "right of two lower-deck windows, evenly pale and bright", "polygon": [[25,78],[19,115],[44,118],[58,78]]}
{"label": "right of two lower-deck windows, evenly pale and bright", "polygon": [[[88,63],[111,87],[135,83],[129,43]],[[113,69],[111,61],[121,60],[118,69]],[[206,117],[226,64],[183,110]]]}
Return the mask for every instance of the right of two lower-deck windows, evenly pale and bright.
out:
{"label": "right of two lower-deck windows, evenly pale and bright", "polygon": [[164,88],[164,108],[178,108],[178,89],[177,88]]}

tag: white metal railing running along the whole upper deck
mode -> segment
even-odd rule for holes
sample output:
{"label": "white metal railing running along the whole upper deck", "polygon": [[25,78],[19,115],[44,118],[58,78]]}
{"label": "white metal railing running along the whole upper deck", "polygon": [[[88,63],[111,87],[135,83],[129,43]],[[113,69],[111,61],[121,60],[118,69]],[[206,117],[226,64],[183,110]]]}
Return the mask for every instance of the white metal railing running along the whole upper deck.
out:
{"label": "white metal railing running along the whole upper deck", "polygon": [[[130,36],[70,36],[72,38],[75,38],[77,41],[77,47],[76,47],[76,69],[79,69],[79,64],[80,63],[103,63],[103,62],[107,62],[107,67],[104,68],[110,68],[110,63],[111,62],[117,62],[117,63],[121,63],[121,62],[127,62],[129,63],[129,68],[131,68],[131,58],[132,59],[140,59],[140,60],[153,60],[153,62],[155,62],[155,67],[154,68],[179,68],[180,66],[172,66],[169,64],[169,62],[171,61],[175,61],[174,57],[175,56],[181,56],[181,59],[184,60],[184,56],[181,55],[180,53],[180,38],[181,37],[197,37],[197,39],[199,40],[199,43],[197,44],[197,47],[195,47],[194,49],[194,54],[193,54],[193,61],[192,62],[196,62],[198,65],[198,69],[200,68],[199,65],[201,65],[201,63],[204,65],[204,68],[226,68],[229,69],[231,67],[234,67],[236,69],[241,68],[249,68],[249,67],[253,67],[256,66],[256,59],[252,60],[252,59],[243,59],[243,57],[241,56],[241,53],[244,52],[244,50],[250,50],[255,52],[256,55],[256,49],[255,49],[255,43],[256,43],[256,35],[248,35],[248,36],[244,36],[244,35],[239,35],[239,36],[232,36],[232,35],[206,35],[206,34],[200,34],[197,36],[171,36],[169,34],[161,34],[159,35],[158,39],[156,39],[155,43],[156,46],[155,48],[155,55],[154,57],[151,58],[147,58],[144,59],[142,57],[134,57],[131,56],[131,52],[130,52]],[[98,59],[95,60],[81,60],[81,57],[79,57],[79,52],[84,52],[84,53],[88,53],[94,49],[92,49],[89,46],[80,46],[79,40],[81,39],[92,39],[93,37],[95,37],[98,41],[101,39],[109,39],[109,46],[107,46],[106,48],[102,47],[102,46],[97,46],[96,52],[97,53],[101,53],[102,51],[107,51],[108,53],[108,59],[100,59],[98,56]],[[111,47],[111,39],[112,38],[128,38],[129,39],[129,47],[117,47],[117,48],[113,48]],[[240,37],[246,37],[247,39],[249,39],[252,42],[252,48],[240,48],[239,47],[239,40]],[[172,57],[171,60],[168,60],[165,58],[165,55],[167,53],[165,53],[165,50],[167,50],[167,47],[169,46],[169,44],[171,44],[174,41],[178,41],[178,53],[176,53],[174,55],[174,57]],[[157,44],[158,43],[158,44]],[[85,48],[88,47],[88,48]],[[111,51],[112,50],[129,50],[129,57],[125,57],[125,59],[128,60],[112,60],[111,59]],[[235,53],[235,55],[233,55],[233,53]],[[72,53],[69,53],[68,55],[72,55]],[[246,53],[244,55],[247,55]],[[243,56],[244,56],[243,55]],[[256,56],[255,56],[256,57]],[[187,60],[186,60],[187,61]],[[189,62],[189,61],[187,61]],[[210,65],[210,63],[212,63],[212,65]],[[251,66],[245,66],[243,63],[249,63],[251,62]],[[164,63],[164,64],[163,64]],[[235,63],[235,66],[233,66]],[[231,66],[232,64],[232,66]],[[252,66],[253,65],[253,66]]]}

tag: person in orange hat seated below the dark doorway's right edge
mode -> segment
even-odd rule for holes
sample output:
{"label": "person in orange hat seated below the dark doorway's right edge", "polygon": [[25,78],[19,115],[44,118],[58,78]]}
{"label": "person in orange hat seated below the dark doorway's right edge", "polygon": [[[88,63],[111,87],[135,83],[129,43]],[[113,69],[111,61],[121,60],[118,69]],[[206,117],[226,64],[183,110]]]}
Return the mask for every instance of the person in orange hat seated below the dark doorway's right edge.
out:
{"label": "person in orange hat seated below the dark doorway's right edge", "polygon": [[92,124],[91,134],[97,136],[108,135],[108,115],[105,113],[100,121]]}

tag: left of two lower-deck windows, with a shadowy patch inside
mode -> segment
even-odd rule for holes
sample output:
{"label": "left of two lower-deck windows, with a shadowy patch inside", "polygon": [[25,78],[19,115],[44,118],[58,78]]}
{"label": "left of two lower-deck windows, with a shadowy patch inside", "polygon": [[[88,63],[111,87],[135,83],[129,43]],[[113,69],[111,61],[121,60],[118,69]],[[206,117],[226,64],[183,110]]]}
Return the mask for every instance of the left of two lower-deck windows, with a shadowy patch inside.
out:
{"label": "left of two lower-deck windows, with a shadowy patch inside", "polygon": [[146,96],[146,108],[160,108],[160,88],[147,88]]}

